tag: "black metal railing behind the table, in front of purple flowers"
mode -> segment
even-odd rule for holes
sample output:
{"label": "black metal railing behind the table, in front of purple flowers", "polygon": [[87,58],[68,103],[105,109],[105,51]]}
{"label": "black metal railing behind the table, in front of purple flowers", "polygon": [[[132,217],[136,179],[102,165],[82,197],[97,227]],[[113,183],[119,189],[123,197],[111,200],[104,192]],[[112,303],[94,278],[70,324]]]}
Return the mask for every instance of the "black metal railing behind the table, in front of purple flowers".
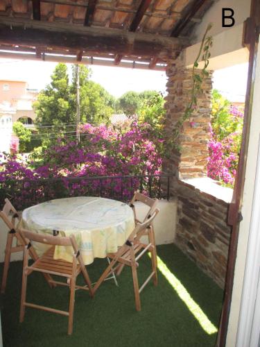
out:
{"label": "black metal railing behind the table, in front of purple flowers", "polygon": [[71,196],[102,196],[129,201],[134,192],[151,198],[170,198],[173,175],[145,176],[82,176],[41,178],[35,180],[6,180],[0,183],[0,203],[10,198],[15,206],[24,209],[36,203]]}

